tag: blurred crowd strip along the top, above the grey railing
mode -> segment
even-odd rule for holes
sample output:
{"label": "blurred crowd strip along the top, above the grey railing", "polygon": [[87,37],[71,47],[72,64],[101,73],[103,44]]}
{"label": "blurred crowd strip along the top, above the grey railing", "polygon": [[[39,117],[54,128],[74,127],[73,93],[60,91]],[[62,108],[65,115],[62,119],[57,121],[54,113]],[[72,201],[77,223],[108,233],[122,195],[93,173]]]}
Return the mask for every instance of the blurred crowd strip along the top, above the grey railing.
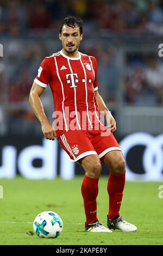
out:
{"label": "blurred crowd strip along the top, above the grey railing", "polygon": [[163,0],[0,0],[0,34],[18,36],[33,29],[58,28],[70,14],[97,29],[163,33]]}

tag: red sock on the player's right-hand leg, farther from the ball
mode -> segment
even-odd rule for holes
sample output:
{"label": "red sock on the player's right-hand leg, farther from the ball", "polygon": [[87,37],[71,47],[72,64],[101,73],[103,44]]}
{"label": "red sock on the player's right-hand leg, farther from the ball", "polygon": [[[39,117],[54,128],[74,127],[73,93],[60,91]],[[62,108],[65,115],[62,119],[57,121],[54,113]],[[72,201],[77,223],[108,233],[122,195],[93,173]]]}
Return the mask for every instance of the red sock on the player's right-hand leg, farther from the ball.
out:
{"label": "red sock on the player's right-hand leg, farther from the ball", "polygon": [[123,188],[125,184],[126,170],[122,174],[113,174],[110,172],[108,180],[109,194],[109,220],[119,215],[123,197]]}

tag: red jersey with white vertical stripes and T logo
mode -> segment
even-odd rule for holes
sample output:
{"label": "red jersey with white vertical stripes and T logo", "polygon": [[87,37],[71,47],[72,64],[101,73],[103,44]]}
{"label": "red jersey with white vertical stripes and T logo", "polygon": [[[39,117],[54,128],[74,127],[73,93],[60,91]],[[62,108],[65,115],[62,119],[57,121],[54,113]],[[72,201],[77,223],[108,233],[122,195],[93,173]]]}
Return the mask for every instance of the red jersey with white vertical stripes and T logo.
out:
{"label": "red jersey with white vertical stripes and T logo", "polygon": [[61,50],[43,59],[34,82],[51,87],[57,137],[68,130],[97,130],[101,120],[95,98],[95,57],[79,52],[77,58],[70,58]]}

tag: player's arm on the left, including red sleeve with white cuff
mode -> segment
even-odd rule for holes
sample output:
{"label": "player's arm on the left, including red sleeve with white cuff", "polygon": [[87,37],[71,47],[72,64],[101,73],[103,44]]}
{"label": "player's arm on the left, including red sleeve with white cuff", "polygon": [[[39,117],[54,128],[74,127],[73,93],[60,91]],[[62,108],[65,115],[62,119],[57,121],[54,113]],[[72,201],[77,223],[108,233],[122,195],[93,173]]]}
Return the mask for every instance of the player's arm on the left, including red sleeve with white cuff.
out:
{"label": "player's arm on the left, including red sleeve with white cuff", "polygon": [[46,114],[44,112],[42,102],[40,99],[40,96],[42,95],[45,88],[47,87],[49,78],[50,78],[50,73],[48,70],[47,60],[44,59],[43,62],[41,63],[38,75],[35,78],[33,86],[30,90],[29,103],[36,117],[39,119],[41,123],[41,129],[42,129],[43,135],[46,137],[46,139],[52,139],[54,141],[54,137],[56,137],[56,132],[53,129],[53,126],[51,125],[51,123],[49,123],[48,118],[46,117]]}

